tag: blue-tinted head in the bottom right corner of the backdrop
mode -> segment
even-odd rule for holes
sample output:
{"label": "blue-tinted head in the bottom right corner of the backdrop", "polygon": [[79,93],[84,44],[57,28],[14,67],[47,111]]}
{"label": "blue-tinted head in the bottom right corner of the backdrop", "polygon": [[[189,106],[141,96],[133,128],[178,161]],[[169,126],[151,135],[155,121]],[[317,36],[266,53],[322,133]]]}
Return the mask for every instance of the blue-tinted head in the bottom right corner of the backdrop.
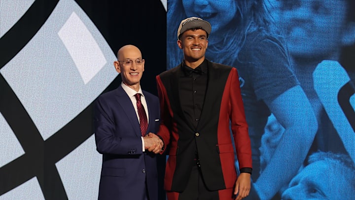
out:
{"label": "blue-tinted head in the bottom right corner of the backdrop", "polygon": [[348,155],[317,152],[291,180],[282,199],[354,200],[354,188],[355,165]]}

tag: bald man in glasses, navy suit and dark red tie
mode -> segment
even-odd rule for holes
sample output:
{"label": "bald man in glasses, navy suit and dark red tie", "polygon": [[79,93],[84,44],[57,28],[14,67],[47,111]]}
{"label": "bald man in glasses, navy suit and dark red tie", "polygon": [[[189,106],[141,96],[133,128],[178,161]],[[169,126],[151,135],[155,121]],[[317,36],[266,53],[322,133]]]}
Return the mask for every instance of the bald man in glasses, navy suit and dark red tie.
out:
{"label": "bald man in glasses, navy suit and dark red tie", "polygon": [[103,155],[99,200],[157,200],[155,154],[163,143],[158,98],[143,91],[144,59],[139,48],[125,45],[113,62],[121,85],[95,102],[95,140]]}

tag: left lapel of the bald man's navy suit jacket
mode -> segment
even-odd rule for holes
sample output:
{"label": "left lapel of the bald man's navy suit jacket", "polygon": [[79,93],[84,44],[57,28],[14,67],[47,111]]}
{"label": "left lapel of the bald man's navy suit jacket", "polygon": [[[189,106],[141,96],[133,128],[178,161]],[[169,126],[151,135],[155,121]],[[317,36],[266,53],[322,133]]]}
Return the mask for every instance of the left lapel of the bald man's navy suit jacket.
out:
{"label": "left lapel of the bald man's navy suit jacket", "polygon": [[121,86],[119,86],[116,89],[116,99],[117,103],[121,106],[123,109],[124,113],[128,117],[128,119],[131,121],[132,127],[134,132],[136,133],[137,136],[141,136],[141,128],[140,124],[137,118],[136,111],[132,105],[132,101],[127,95],[127,93],[123,90]]}

